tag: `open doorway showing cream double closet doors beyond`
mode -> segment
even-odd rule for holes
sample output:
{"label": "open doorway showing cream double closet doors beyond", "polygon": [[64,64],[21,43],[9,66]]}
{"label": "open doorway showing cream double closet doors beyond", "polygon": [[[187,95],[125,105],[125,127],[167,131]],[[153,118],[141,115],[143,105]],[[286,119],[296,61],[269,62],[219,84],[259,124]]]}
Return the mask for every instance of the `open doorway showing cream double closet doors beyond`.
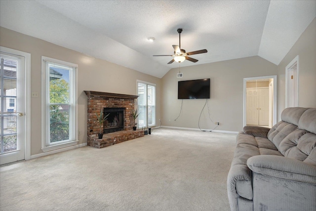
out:
{"label": "open doorway showing cream double closet doors beyond", "polygon": [[276,124],[276,76],[243,79],[243,126]]}

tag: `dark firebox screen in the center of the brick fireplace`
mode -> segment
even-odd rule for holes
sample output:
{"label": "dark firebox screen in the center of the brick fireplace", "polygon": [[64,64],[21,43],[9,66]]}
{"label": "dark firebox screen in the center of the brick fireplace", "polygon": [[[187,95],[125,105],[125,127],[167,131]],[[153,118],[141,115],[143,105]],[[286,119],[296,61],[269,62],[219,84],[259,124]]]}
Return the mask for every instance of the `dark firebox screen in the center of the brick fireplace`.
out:
{"label": "dark firebox screen in the center of the brick fireplace", "polygon": [[124,130],[124,108],[104,108],[103,112],[110,114],[103,124],[103,133]]}

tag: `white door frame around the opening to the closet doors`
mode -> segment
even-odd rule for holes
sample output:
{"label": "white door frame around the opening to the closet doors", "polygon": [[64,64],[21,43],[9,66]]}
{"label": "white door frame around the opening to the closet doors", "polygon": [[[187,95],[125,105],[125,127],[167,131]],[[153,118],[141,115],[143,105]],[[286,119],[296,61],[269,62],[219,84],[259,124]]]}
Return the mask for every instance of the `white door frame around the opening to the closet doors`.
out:
{"label": "white door frame around the opening to the closet doors", "polygon": [[272,125],[277,123],[276,116],[276,94],[277,94],[277,76],[259,76],[251,78],[243,78],[243,127],[246,126],[246,92],[247,92],[247,81],[249,80],[259,80],[259,79],[273,79],[273,115],[272,115]]}

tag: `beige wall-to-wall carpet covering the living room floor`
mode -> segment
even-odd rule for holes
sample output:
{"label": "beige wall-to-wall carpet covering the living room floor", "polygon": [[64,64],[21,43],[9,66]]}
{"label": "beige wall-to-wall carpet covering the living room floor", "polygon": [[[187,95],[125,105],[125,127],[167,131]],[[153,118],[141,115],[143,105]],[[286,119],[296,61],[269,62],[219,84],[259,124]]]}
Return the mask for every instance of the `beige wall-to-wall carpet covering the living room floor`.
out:
{"label": "beige wall-to-wall carpet covering the living room floor", "polygon": [[0,168],[1,211],[229,211],[236,134],[159,128]]}

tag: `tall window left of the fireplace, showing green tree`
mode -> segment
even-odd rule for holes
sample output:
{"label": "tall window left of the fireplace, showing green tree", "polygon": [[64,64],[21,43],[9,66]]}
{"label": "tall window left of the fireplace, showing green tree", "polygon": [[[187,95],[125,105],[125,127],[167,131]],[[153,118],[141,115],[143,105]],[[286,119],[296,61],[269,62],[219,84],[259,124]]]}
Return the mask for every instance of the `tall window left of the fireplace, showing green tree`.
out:
{"label": "tall window left of the fireplace, showing green tree", "polygon": [[42,59],[42,149],[50,151],[78,142],[78,65]]}

